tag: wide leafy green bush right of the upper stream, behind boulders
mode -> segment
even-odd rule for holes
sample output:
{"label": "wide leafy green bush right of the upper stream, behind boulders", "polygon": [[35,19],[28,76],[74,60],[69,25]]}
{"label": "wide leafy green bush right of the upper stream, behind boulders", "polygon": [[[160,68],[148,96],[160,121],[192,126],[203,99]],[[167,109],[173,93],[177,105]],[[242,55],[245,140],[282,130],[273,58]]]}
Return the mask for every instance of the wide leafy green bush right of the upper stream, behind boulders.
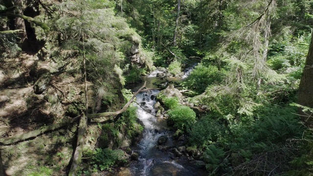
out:
{"label": "wide leafy green bush right of the upper stream, behind boulders", "polygon": [[199,64],[182,85],[200,94],[203,93],[208,86],[221,83],[225,78],[225,73],[223,69],[221,71],[218,70],[217,66],[204,66],[203,64]]}

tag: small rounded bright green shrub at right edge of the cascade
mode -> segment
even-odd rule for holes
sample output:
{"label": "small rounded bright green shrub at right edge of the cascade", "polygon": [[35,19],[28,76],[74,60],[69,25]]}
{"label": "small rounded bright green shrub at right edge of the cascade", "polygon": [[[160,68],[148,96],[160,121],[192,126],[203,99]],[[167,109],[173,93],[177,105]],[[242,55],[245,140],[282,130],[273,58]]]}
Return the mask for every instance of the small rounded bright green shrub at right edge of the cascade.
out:
{"label": "small rounded bright green shrub at right edge of the cascade", "polygon": [[169,110],[168,115],[168,123],[184,132],[196,122],[196,113],[186,106],[178,106],[174,110]]}

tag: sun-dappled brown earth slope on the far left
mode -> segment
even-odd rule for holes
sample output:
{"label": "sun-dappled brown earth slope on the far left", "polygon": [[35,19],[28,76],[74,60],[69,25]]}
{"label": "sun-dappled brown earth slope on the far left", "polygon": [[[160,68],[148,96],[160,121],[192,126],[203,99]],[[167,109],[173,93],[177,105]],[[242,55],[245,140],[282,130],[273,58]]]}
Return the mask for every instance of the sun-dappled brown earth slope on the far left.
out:
{"label": "sun-dappled brown earth slope on the far left", "polygon": [[[39,62],[38,57],[26,54],[4,60],[1,64],[1,138],[32,132],[63,118],[65,109],[60,102],[53,104],[44,94],[34,93],[35,78],[31,75],[32,70],[51,69],[46,68],[49,66],[50,62]],[[69,82],[70,79],[67,77],[62,80]],[[70,89],[72,86],[64,83],[62,89]],[[57,94],[62,93],[59,91]],[[66,175],[76,129],[70,129],[71,126],[65,128],[69,130],[60,129],[13,145],[0,146],[6,175]]]}

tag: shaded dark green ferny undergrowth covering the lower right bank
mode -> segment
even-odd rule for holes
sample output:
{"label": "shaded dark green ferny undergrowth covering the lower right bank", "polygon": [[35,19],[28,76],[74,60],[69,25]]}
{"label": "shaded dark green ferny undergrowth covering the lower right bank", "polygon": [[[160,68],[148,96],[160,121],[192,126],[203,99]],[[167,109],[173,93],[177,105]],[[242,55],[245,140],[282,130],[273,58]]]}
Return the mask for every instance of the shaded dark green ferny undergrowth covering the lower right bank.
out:
{"label": "shaded dark green ferny undergrowth covering the lower right bank", "polygon": [[[209,114],[192,126],[190,145],[203,151],[211,175],[277,175],[289,171],[304,128],[295,107],[260,107],[249,124]],[[243,169],[245,168],[245,169]]]}

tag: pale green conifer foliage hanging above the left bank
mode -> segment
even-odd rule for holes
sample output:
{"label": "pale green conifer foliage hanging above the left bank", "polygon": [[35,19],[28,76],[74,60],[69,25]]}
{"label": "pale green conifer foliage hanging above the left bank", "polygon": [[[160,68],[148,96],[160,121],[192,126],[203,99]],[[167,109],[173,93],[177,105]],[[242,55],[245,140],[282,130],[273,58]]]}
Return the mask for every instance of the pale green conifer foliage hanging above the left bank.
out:
{"label": "pale green conifer foliage hanging above the left bank", "polygon": [[[63,49],[77,50],[79,62],[86,58],[88,79],[112,93],[125,84],[120,66],[132,44],[140,42],[113,6],[112,0],[65,1],[56,5],[59,13],[52,25],[63,36],[59,39]],[[149,56],[142,53],[146,66],[152,65]],[[133,75],[137,80],[140,74],[135,70]]]}

